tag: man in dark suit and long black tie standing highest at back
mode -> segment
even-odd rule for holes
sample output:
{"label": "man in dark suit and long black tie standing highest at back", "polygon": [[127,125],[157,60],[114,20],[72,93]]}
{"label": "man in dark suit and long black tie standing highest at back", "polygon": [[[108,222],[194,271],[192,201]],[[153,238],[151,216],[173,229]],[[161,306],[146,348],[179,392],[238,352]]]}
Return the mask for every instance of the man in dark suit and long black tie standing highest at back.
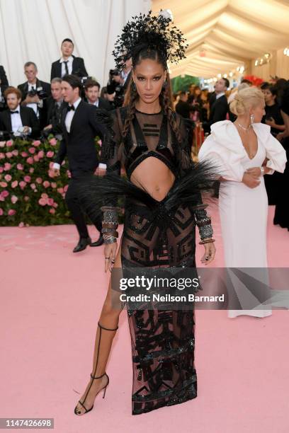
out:
{"label": "man in dark suit and long black tie standing highest at back", "polygon": [[62,57],[51,65],[50,81],[55,77],[62,78],[67,74],[74,74],[80,78],[89,75],[84,66],[84,59],[74,57],[72,55],[73,50],[74,43],[68,37],[65,38],[61,44]]}

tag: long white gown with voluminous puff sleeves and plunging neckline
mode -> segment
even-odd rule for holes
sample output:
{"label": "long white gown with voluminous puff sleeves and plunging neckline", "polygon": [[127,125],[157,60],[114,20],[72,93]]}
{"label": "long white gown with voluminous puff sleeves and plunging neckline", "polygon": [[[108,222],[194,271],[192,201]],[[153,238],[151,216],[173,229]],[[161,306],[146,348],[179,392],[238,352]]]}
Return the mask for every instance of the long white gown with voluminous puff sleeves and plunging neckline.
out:
{"label": "long white gown with voluminous puff sleeves and plunging neckline", "polygon": [[[283,173],[286,156],[268,125],[255,123],[253,128],[258,138],[254,158],[249,158],[237,127],[229,120],[212,125],[211,134],[205,139],[198,155],[200,161],[209,159],[220,167],[220,175],[226,179],[220,184],[219,212],[227,268],[268,266],[268,197],[263,176],[260,185],[255,188],[247,187],[242,178],[248,168],[261,167],[265,158],[268,158],[268,168]],[[236,281],[235,284],[241,283]],[[229,310],[228,314],[229,317],[240,314],[265,317],[271,314],[271,310]]]}

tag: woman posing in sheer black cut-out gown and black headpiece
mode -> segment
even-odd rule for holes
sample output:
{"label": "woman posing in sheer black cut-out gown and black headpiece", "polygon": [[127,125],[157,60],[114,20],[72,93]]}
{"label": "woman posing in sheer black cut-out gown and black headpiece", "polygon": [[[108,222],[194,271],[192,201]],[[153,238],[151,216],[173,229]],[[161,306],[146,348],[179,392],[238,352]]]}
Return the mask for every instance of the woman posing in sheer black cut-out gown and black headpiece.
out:
{"label": "woman posing in sheer black cut-out gown and black headpiece", "polygon": [[[154,27],[157,20],[159,28]],[[106,270],[112,266],[123,271],[128,267],[196,270],[196,225],[205,247],[202,262],[209,263],[215,256],[210,217],[200,197],[200,185],[204,189],[209,185],[208,171],[193,166],[191,128],[171,110],[166,69],[169,56],[164,48],[158,49],[162,38],[167,42],[164,30],[169,21],[150,14],[146,20],[137,18],[135,39],[139,38],[140,46],[134,46],[132,52],[128,46],[120,50],[132,56],[132,79],[125,106],[109,115],[102,150],[107,175],[95,180],[96,195],[101,185],[107,204],[102,208]],[[129,25],[124,33],[128,30]],[[122,161],[128,180],[120,177]],[[120,196],[125,196],[125,222],[117,253],[115,203]],[[95,198],[95,209],[98,200],[101,197]],[[98,321],[91,381],[74,410],[76,415],[89,412],[97,393],[105,391],[108,385],[106,363],[121,310],[112,308],[112,297],[110,282]],[[196,398],[193,308],[128,309],[128,321],[132,342],[132,414]]]}

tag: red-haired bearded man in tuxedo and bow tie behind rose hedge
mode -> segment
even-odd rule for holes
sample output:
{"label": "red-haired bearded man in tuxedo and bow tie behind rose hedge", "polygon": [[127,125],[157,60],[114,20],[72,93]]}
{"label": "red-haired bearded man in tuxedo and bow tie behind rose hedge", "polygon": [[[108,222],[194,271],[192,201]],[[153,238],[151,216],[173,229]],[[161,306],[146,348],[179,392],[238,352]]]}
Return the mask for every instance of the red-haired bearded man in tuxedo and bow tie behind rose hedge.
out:
{"label": "red-haired bearded man in tuxedo and bow tie behind rose hedge", "polygon": [[8,110],[0,112],[0,130],[12,132],[16,137],[25,134],[38,138],[40,134],[38,118],[32,108],[21,107],[21,91],[9,87],[4,92],[4,96]]}

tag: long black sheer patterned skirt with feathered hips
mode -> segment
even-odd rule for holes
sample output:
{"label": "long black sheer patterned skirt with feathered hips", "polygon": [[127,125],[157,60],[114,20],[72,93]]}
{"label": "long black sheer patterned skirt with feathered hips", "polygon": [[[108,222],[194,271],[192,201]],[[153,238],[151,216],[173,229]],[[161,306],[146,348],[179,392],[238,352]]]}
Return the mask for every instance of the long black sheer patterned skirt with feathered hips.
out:
{"label": "long black sheer patterned skirt with feathered hips", "polygon": [[[196,219],[200,192],[209,190],[210,168],[198,166],[175,181],[164,200],[120,176],[96,178],[91,206],[125,197],[122,272],[132,267],[191,267],[196,272]],[[102,201],[103,204],[103,201]],[[132,414],[196,398],[195,312],[128,308],[132,343]]]}

